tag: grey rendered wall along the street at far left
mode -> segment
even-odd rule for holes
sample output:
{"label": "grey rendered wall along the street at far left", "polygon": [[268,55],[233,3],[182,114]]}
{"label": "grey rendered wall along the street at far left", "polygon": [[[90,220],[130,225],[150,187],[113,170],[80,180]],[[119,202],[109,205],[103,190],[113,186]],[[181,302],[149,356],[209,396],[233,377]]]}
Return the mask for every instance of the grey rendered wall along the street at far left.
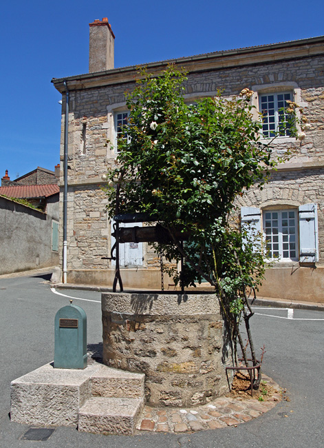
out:
{"label": "grey rendered wall along the street at far left", "polygon": [[58,221],[58,195],[50,214],[0,196],[0,274],[58,264],[52,251],[52,218]]}

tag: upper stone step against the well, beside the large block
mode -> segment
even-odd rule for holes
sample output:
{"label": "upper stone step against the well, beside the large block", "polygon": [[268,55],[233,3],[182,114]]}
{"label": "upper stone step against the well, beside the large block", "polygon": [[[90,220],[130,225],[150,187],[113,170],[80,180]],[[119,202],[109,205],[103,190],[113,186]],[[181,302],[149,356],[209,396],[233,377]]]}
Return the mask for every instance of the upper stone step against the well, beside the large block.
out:
{"label": "upper stone step against the well, beside the large block", "polygon": [[144,398],[144,374],[102,365],[91,376],[91,395],[96,397]]}

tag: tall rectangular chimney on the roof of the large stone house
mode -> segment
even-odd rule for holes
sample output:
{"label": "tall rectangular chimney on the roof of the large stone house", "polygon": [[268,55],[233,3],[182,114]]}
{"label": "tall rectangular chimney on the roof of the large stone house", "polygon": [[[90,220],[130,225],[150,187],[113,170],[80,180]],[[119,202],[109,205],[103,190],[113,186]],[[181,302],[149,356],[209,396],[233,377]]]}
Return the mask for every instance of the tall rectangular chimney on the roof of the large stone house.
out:
{"label": "tall rectangular chimney on the roof of the large stone house", "polygon": [[114,32],[107,17],[89,23],[89,73],[114,68]]}

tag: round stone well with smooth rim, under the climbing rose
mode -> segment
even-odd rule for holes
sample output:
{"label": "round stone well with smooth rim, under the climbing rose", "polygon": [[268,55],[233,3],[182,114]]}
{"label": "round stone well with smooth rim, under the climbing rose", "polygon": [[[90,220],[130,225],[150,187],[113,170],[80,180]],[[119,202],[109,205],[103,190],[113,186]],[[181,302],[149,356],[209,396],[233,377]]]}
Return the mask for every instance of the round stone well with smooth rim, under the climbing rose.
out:
{"label": "round stone well with smooth rim, under the climbing rose", "polygon": [[228,391],[215,294],[104,293],[102,330],[103,362],[144,373],[149,405],[195,406]]}

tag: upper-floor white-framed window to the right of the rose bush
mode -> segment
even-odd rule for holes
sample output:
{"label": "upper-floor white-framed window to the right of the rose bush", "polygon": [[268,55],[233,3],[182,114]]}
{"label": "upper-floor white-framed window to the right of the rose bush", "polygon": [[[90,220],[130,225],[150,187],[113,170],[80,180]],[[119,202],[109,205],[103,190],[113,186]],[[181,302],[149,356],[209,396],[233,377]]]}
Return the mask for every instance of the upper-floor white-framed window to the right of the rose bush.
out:
{"label": "upper-floor white-framed window to the right of the rose bush", "polygon": [[292,92],[277,92],[259,96],[259,110],[262,114],[262,132],[265,137],[290,136],[289,114],[284,109],[292,101]]}

